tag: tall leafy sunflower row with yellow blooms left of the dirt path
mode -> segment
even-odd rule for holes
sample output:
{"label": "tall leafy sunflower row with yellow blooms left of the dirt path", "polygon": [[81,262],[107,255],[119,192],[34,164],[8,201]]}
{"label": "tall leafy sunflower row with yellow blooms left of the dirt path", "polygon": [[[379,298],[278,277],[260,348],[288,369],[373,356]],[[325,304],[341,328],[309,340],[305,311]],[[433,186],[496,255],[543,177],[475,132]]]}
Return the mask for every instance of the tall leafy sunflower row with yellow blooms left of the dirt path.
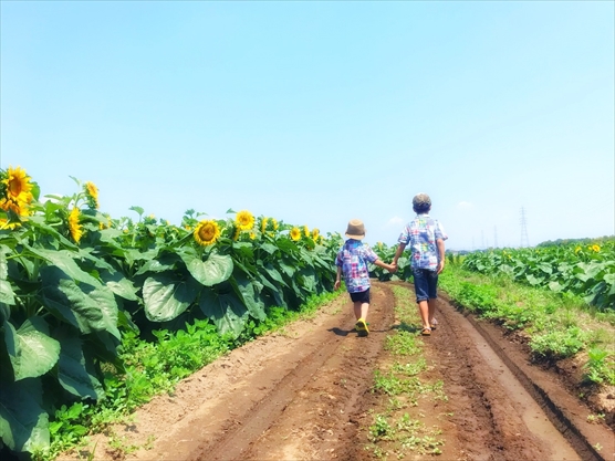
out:
{"label": "tall leafy sunflower row with yellow blooms left of the dirt path", "polygon": [[73,196],[41,201],[24,169],[0,170],[0,448],[44,450],[55,410],[104,399],[126,338],[196,319],[237,338],[333,291],[338,234],[247,210],[113,219],[73,180]]}

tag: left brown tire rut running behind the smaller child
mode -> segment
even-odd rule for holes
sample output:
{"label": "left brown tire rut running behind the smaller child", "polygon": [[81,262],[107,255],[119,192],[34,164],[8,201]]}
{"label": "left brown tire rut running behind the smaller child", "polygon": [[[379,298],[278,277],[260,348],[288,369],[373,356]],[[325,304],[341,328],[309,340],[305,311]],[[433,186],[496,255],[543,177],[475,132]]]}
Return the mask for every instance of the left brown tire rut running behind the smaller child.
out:
{"label": "left brown tire rut running behind the smaller child", "polygon": [[[348,416],[361,407],[368,389],[373,363],[382,350],[393,319],[388,290],[372,290],[368,337],[358,338],[354,317],[330,325],[319,336],[321,347],[261,401],[242,428],[229,432],[215,447],[200,446],[190,460],[298,460],[345,457],[356,431]],[[352,303],[343,296],[343,311]],[[348,321],[350,318],[350,321]],[[334,322],[336,323],[336,322]],[[247,430],[243,428],[248,427]],[[344,437],[340,437],[344,433]],[[352,447],[352,444],[351,444]]]}

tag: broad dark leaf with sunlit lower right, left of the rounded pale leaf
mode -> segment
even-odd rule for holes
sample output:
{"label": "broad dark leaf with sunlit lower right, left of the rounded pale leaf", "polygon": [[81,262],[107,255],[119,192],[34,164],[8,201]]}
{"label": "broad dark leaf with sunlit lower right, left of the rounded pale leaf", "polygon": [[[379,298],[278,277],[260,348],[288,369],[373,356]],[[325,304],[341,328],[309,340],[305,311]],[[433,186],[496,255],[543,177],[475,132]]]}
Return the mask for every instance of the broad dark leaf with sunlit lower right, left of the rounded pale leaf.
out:
{"label": "broad dark leaf with sunlit lower right, left of the rounded pale leaf", "polygon": [[117,303],[105,285],[96,287],[69,279],[54,266],[41,270],[43,302],[58,317],[87,334],[106,331],[121,338],[117,329]]}

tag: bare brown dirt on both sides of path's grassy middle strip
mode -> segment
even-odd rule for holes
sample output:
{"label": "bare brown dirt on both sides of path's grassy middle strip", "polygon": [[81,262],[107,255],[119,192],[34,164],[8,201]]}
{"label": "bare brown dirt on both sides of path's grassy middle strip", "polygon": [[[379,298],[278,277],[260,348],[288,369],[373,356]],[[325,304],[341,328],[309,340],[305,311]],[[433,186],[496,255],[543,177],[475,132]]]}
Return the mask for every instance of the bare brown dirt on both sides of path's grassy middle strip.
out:
{"label": "bare brown dirt on both sides of path's grassy middle strip", "polygon": [[[202,368],[173,396],[139,409],[133,423],[92,438],[94,459],[373,459],[364,449],[365,428],[378,397],[369,387],[384,338],[398,327],[393,307],[392,285],[375,282],[372,333],[362,338],[354,332],[350,300],[342,295],[314,318]],[[425,338],[425,355],[432,364],[430,377],[444,380],[449,400],[437,404],[442,407],[432,415],[452,417],[445,421],[442,454],[424,459],[615,459],[613,431],[587,421],[590,409],[556,374],[532,366],[521,345],[445,297],[438,308],[440,324]],[[60,459],[88,454],[84,449]]]}

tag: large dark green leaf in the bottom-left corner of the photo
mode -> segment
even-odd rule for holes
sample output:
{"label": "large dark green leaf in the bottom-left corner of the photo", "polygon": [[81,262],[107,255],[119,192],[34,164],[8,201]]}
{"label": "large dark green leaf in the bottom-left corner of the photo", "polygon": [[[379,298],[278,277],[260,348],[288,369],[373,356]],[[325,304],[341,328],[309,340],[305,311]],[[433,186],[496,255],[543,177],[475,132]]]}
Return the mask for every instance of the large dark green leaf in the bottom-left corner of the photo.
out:
{"label": "large dark green leaf in the bottom-left corner of the photo", "polygon": [[0,438],[11,450],[34,451],[49,447],[49,417],[42,408],[39,378],[2,383]]}

